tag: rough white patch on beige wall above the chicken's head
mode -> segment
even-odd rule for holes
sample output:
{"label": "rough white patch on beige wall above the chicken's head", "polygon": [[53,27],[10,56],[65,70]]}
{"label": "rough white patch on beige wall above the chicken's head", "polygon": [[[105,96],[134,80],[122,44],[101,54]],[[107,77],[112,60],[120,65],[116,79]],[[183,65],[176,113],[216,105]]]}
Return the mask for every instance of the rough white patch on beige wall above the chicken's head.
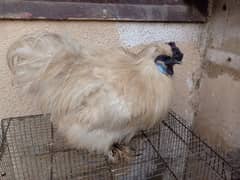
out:
{"label": "rough white patch on beige wall above the chicken's head", "polygon": [[134,46],[152,41],[201,43],[203,24],[118,23],[120,41]]}

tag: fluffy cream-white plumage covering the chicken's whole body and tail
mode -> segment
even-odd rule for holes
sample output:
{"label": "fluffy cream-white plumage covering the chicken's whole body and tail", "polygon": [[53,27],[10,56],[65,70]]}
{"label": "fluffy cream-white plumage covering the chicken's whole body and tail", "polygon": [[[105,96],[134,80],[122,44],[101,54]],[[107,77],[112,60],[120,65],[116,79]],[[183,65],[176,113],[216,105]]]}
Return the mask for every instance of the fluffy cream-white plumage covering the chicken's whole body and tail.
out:
{"label": "fluffy cream-white plumage covering the chicken's whole body and tail", "polygon": [[[51,113],[75,148],[112,153],[156,124],[168,109],[171,77],[154,63],[172,55],[163,43],[132,49],[93,49],[54,33],[22,37],[8,51],[14,82]],[[123,149],[122,149],[123,150]]]}

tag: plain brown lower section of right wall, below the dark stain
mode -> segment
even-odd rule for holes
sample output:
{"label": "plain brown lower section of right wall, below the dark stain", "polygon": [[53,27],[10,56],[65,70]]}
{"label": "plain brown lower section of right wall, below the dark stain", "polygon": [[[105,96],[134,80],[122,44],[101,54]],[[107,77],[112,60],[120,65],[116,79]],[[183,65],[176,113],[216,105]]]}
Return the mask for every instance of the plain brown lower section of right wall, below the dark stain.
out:
{"label": "plain brown lower section of right wall, below the dark stain", "polygon": [[226,74],[214,78],[205,74],[202,79],[195,128],[212,145],[225,150],[240,147],[239,90],[239,81]]}

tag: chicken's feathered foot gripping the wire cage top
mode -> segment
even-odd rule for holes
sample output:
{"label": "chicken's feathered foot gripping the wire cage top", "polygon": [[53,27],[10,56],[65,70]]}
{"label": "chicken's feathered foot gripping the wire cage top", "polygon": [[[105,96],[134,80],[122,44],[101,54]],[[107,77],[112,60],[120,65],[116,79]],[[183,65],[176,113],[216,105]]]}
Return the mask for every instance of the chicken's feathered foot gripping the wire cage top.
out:
{"label": "chicken's feathered foot gripping the wire cage top", "polygon": [[129,146],[123,144],[113,144],[108,153],[108,158],[112,163],[129,161],[135,156],[135,151]]}

